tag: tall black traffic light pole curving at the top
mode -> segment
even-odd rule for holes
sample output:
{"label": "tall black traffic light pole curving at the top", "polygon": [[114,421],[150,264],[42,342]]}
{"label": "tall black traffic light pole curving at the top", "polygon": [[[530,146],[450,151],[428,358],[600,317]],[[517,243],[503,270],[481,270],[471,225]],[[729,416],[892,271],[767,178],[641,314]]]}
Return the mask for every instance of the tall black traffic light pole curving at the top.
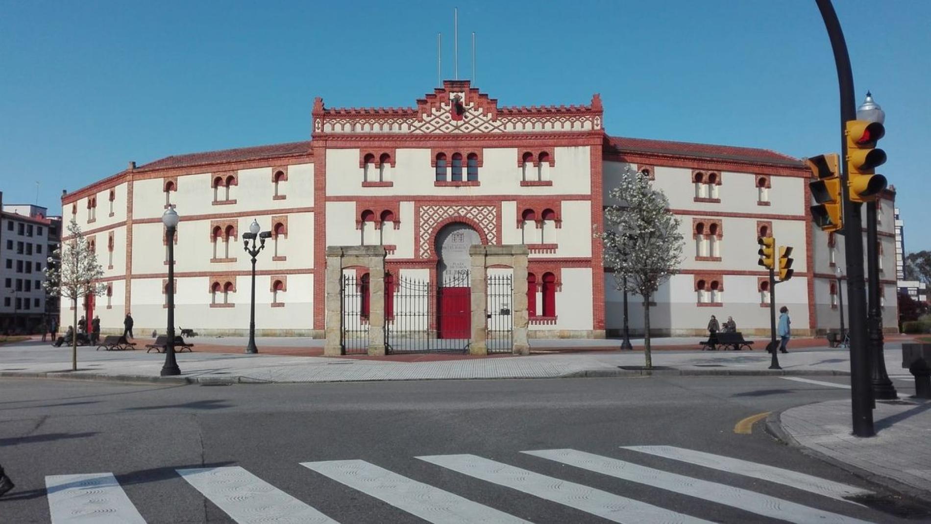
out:
{"label": "tall black traffic light pole curving at the top", "polygon": [[841,155],[843,156],[841,192],[843,195],[844,253],[847,259],[847,302],[850,320],[850,390],[854,435],[874,437],[872,418],[872,387],[870,381],[870,352],[867,341],[867,296],[863,274],[863,220],[860,206],[850,200],[846,140],[846,122],[857,118],[854,100],[854,74],[850,56],[843,38],[841,22],[830,0],[815,0],[834,52],[837,79],[841,95]]}

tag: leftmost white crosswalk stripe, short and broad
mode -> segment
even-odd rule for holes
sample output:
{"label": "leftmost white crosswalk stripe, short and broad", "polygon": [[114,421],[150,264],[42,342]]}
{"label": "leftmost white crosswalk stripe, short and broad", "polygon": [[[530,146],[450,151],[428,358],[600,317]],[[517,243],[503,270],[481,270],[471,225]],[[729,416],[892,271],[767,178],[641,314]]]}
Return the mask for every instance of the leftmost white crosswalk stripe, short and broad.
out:
{"label": "leftmost white crosswalk stripe, short and broad", "polygon": [[46,477],[52,524],[145,524],[112,473]]}

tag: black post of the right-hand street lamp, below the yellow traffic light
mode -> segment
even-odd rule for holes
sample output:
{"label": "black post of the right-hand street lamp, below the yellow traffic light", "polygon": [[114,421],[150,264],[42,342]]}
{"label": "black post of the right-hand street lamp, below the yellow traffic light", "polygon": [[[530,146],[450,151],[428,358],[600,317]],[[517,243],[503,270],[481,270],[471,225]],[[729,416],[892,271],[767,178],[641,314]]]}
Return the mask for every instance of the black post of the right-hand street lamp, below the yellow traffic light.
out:
{"label": "black post of the right-hand street lamp, below the yellow traffic light", "polygon": [[889,373],[885,370],[885,356],[883,354],[883,310],[880,307],[880,296],[883,287],[879,281],[879,239],[877,237],[877,208],[879,199],[867,203],[867,295],[870,299],[869,323],[870,356],[872,357],[872,393],[873,398],[882,400],[895,400],[898,398],[896,386],[889,380]]}

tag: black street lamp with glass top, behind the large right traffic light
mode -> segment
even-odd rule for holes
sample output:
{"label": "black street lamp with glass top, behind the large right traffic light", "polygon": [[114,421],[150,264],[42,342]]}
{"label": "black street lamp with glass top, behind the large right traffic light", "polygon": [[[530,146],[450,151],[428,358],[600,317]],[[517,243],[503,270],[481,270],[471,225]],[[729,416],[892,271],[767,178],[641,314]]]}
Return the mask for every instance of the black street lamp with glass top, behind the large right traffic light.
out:
{"label": "black street lamp with glass top, behind the large right traffic light", "polygon": [[[872,100],[872,93],[867,91],[867,98],[857,108],[857,120],[867,122],[885,122],[885,112]],[[877,213],[879,199],[867,202],[867,347],[870,348],[872,360],[873,397],[881,400],[898,398],[896,386],[892,385],[885,370],[883,356],[883,310],[880,307],[882,285],[879,281],[879,237],[877,233]]]}

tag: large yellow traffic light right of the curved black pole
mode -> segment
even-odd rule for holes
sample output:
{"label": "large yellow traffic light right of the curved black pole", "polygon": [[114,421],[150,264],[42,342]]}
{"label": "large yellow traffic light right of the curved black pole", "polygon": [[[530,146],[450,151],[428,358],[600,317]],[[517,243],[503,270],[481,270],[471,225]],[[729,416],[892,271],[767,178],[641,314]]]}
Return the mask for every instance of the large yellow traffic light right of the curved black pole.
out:
{"label": "large yellow traffic light right of the curved black pole", "polygon": [[876,142],[885,136],[885,128],[879,122],[866,120],[849,120],[845,128],[850,200],[871,202],[886,185],[883,175],[874,174],[877,167],[885,164],[885,152],[876,148]]}

